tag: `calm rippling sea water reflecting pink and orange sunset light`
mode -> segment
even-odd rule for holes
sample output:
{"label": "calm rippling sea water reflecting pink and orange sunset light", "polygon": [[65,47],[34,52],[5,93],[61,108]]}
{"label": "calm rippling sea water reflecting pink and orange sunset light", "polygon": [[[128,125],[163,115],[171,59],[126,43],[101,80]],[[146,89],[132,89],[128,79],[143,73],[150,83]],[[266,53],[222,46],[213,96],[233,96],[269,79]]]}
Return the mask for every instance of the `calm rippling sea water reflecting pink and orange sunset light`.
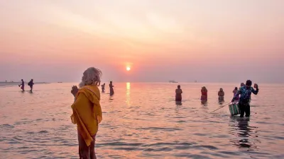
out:
{"label": "calm rippling sea water reflecting pink and orange sunset light", "polygon": [[[252,95],[251,117],[230,117],[239,83],[114,83],[102,94],[98,158],[284,158],[283,85],[261,85]],[[74,83],[0,88],[0,158],[78,158],[77,130],[70,122]],[[207,86],[208,102],[200,102]],[[222,87],[225,101],[218,102]]]}

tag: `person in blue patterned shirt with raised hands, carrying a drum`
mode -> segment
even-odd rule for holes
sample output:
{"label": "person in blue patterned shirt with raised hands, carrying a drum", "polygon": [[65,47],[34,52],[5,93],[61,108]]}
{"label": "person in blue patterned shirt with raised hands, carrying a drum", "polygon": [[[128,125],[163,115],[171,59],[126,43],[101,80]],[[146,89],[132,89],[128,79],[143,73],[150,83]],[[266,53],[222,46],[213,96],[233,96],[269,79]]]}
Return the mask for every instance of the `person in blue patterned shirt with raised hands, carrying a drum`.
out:
{"label": "person in blue patterned shirt with raised hands, carrying a drum", "polygon": [[252,82],[250,80],[246,81],[246,86],[243,86],[240,88],[238,93],[234,96],[234,98],[231,100],[231,102],[234,102],[234,100],[237,98],[238,95],[241,95],[239,98],[239,108],[241,110],[241,115],[240,117],[244,117],[244,113],[246,112],[246,117],[249,117],[251,114],[251,108],[249,105],[249,100],[251,98],[251,93],[257,95],[258,94],[258,85],[255,83],[254,90],[251,87]]}

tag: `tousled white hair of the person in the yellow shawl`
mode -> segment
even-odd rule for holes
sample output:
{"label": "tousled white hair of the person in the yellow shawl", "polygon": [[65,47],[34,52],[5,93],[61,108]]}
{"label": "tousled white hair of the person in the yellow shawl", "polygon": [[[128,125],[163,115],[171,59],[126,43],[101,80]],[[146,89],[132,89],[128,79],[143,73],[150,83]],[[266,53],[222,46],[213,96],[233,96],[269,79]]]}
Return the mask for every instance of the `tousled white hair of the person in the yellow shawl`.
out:
{"label": "tousled white hair of the person in the yellow shawl", "polygon": [[83,86],[99,86],[101,84],[102,71],[94,67],[89,67],[84,71],[82,81],[79,84],[79,87]]}

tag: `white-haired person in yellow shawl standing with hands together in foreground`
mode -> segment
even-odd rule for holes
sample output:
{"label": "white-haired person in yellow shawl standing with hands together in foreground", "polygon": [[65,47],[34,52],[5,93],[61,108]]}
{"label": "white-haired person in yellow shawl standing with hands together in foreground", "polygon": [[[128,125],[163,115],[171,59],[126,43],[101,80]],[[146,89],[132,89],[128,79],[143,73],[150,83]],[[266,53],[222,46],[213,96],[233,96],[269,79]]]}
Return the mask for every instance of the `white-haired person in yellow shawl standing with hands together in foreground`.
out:
{"label": "white-haired person in yellow shawl standing with hands together in foreground", "polygon": [[100,93],[97,86],[101,83],[102,71],[90,67],[84,71],[82,82],[72,86],[71,93],[75,97],[71,120],[77,124],[80,159],[97,158],[94,151],[99,123],[102,122],[102,108],[99,104]]}

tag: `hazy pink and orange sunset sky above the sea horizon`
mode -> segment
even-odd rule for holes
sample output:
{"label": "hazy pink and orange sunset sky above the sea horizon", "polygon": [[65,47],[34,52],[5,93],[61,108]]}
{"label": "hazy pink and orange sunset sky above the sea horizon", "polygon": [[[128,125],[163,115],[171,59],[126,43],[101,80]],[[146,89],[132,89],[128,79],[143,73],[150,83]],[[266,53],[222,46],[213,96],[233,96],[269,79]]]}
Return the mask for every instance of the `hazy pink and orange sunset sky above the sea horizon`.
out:
{"label": "hazy pink and orange sunset sky above the sea horizon", "polygon": [[94,66],[106,82],[283,83],[283,6],[283,0],[3,0],[0,81],[77,82]]}

